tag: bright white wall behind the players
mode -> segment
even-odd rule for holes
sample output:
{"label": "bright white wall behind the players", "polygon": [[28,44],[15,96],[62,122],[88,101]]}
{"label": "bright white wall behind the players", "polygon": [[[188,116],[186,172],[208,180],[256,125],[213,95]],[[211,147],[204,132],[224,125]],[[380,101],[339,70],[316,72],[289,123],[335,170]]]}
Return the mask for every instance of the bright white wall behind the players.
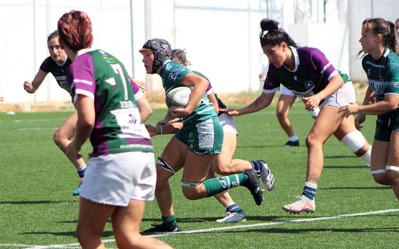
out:
{"label": "bright white wall behind the players", "polygon": [[[133,35],[130,2],[133,5]],[[89,14],[93,22],[93,47],[118,57],[134,77],[150,84],[150,89],[161,90],[160,77],[146,75],[138,50],[147,39],[161,37],[169,40],[172,48],[186,48],[193,68],[206,75],[216,91],[257,90],[261,61],[265,59],[258,40],[259,21],[267,17],[265,2],[1,0],[0,95],[5,97],[6,103],[70,100],[52,76],[46,78],[34,95],[24,92],[22,84],[33,79],[48,56],[47,35],[56,29],[58,18],[71,9]],[[303,1],[268,2],[269,17],[280,21],[297,42],[319,48],[337,68],[350,72],[355,80],[366,79],[360,61],[352,61],[360,49],[358,39],[362,21],[372,16],[391,20],[399,16],[398,0],[338,0],[340,8],[329,14],[327,23],[320,23],[323,20],[322,0],[311,0],[312,6],[319,6],[319,10],[313,10],[310,18],[294,24],[294,3]],[[328,7],[333,9],[334,2],[328,1]]]}

